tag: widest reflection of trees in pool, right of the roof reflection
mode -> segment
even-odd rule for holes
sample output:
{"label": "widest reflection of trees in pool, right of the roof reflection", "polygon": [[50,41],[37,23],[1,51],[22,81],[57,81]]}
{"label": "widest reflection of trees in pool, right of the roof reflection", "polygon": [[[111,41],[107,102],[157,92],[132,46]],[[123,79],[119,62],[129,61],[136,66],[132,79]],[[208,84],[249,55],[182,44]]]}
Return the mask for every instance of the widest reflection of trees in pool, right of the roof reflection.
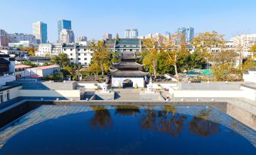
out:
{"label": "widest reflection of trees in pool, right of the roof reflection", "polygon": [[175,107],[165,106],[163,111],[145,109],[145,114],[140,115],[141,127],[143,129],[168,132],[172,136],[177,136],[184,128],[184,121],[187,117],[175,114]]}

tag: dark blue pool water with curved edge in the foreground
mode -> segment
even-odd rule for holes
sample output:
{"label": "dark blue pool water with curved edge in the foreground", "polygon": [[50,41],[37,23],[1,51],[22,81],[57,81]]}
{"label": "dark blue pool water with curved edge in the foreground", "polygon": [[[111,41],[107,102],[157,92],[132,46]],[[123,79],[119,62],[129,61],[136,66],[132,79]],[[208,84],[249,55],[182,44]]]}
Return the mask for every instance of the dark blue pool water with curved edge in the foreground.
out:
{"label": "dark blue pool water with curved edge in the foreground", "polygon": [[248,139],[210,116],[211,109],[191,116],[174,107],[66,114],[17,133],[0,154],[256,154]]}

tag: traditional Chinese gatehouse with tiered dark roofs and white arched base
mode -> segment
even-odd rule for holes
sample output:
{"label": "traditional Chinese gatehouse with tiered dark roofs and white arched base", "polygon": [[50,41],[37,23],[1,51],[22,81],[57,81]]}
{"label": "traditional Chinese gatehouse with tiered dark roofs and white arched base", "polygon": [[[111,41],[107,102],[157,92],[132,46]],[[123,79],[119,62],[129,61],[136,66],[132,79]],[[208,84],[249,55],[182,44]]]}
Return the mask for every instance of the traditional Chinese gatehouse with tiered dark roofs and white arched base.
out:
{"label": "traditional Chinese gatehouse with tiered dark roofs and white arched base", "polygon": [[138,57],[135,53],[121,53],[121,62],[113,64],[109,73],[111,87],[145,87],[150,80],[150,74],[141,71],[143,65],[135,60]]}

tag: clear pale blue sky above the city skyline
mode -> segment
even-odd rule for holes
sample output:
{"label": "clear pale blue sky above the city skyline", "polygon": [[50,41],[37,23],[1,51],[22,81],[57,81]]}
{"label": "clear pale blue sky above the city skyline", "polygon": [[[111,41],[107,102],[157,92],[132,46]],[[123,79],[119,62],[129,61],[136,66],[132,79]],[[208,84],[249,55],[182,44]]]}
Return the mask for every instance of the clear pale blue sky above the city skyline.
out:
{"label": "clear pale blue sky above the city skyline", "polygon": [[57,40],[57,19],[72,20],[76,36],[99,39],[124,29],[139,35],[174,32],[192,26],[195,32],[215,30],[227,39],[256,33],[255,0],[0,0],[0,29],[32,33],[32,23],[48,24],[48,40]]}

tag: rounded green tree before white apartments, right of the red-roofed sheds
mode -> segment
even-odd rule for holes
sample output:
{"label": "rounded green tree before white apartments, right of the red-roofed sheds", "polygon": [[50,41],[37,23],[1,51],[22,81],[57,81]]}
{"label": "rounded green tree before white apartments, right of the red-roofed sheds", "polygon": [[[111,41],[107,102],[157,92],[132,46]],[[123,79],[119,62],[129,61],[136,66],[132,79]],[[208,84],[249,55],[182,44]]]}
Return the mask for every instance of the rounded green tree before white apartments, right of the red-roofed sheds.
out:
{"label": "rounded green tree before white apartments, right of the red-roofed sheds", "polygon": [[70,63],[66,53],[60,53],[57,56],[51,56],[51,64],[60,65],[61,68],[68,66]]}

